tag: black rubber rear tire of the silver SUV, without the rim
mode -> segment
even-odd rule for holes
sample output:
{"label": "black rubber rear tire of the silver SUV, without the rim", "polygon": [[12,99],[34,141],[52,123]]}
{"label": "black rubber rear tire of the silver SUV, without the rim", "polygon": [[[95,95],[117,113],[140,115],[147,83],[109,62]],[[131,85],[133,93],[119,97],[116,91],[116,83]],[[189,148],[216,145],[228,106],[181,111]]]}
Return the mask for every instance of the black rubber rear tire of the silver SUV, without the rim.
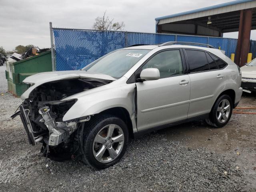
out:
{"label": "black rubber rear tire of the silver SUV, without the rim", "polygon": [[[228,102],[230,104],[230,112],[229,112],[227,119],[224,122],[220,122],[217,117],[218,107],[220,106],[221,102],[225,101],[225,100],[228,100]],[[233,109],[233,104],[232,104],[232,100],[231,100],[230,96],[228,96],[226,94],[222,95],[214,103],[212,110],[209,114],[209,118],[206,119],[205,121],[208,125],[215,127],[215,128],[224,127],[229,122],[229,120],[231,118],[232,109]]]}

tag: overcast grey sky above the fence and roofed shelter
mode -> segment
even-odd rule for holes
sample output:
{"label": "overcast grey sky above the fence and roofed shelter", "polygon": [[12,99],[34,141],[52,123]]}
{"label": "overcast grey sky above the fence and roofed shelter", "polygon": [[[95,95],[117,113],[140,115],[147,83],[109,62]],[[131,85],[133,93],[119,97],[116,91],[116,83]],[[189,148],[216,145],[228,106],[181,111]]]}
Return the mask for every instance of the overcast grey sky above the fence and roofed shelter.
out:
{"label": "overcast grey sky above the fence and roofed shelter", "polygon": [[[126,31],[155,32],[155,18],[232,0],[0,0],[0,46],[50,47],[49,22],[58,28],[92,29],[97,16],[124,22]],[[238,38],[238,32],[224,34]],[[256,30],[251,33],[256,40]]]}

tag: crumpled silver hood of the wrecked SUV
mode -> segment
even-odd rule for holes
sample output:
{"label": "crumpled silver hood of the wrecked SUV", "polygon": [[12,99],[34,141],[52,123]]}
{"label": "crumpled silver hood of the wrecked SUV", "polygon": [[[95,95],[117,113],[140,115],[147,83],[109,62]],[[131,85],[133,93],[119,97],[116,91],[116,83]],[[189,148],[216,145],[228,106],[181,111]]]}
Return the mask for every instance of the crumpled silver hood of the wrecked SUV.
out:
{"label": "crumpled silver hood of the wrecked SUV", "polygon": [[26,90],[20,98],[22,100],[28,98],[32,90],[34,90],[36,87],[44,83],[53,82],[57,80],[72,79],[72,78],[116,80],[115,78],[109,75],[95,73],[95,72],[88,72],[83,70],[43,72],[43,73],[34,74],[23,80],[24,83],[34,84],[34,85],[28,88],[28,90]]}

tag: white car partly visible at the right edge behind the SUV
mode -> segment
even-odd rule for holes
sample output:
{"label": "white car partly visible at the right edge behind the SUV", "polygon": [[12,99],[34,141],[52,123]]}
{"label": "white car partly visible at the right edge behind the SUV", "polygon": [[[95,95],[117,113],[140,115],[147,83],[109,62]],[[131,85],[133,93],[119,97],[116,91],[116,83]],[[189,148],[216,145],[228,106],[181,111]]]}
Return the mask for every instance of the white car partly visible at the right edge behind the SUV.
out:
{"label": "white car partly visible at the right edge behind the SUV", "polygon": [[246,92],[256,92],[256,58],[241,67],[242,83],[241,87]]}

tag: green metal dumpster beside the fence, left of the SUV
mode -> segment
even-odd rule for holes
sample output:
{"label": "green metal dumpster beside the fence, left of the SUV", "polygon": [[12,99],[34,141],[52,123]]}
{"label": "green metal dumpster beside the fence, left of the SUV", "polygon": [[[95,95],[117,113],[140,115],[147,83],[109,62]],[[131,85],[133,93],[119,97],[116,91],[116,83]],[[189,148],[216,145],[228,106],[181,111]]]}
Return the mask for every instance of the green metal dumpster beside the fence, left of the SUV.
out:
{"label": "green metal dumpster beside the fence, left of the SUV", "polygon": [[52,71],[51,51],[7,64],[5,71],[8,82],[8,91],[14,96],[20,97],[27,89],[22,81],[33,74]]}

